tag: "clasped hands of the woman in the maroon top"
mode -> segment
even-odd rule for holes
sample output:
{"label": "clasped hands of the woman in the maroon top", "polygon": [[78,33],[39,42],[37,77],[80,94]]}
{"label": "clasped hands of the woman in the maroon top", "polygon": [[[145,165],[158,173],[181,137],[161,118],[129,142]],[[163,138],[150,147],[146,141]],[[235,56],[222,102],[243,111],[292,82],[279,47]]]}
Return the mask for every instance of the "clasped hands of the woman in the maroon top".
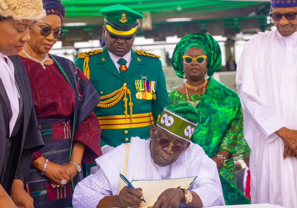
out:
{"label": "clasped hands of the woman in the maroon top", "polygon": [[[59,184],[57,187],[64,187],[64,185],[67,185],[73,179],[72,173],[65,167],[65,165],[58,165],[50,161],[48,161],[44,175],[48,177],[50,181]],[[67,181],[64,185],[61,184],[63,179]]]}

